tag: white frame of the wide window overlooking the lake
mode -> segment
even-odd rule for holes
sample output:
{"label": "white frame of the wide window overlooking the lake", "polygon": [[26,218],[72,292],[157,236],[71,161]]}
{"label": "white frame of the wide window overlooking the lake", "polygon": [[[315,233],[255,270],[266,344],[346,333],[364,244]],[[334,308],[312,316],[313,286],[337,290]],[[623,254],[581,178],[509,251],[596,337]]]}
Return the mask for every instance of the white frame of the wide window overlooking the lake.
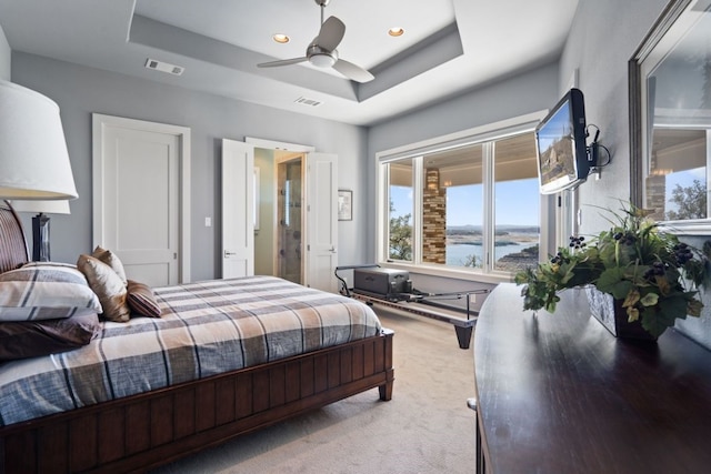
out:
{"label": "white frame of the wide window overlooking the lake", "polygon": [[[483,269],[464,269],[455,266],[447,266],[440,264],[429,264],[421,262],[422,241],[421,241],[421,214],[422,214],[422,192],[417,191],[422,189],[422,173],[417,172],[422,168],[423,157],[434,152],[441,152],[451,150],[454,148],[483,144],[482,150],[482,179],[489,181],[489,185],[484,185],[484,215],[483,224],[485,235],[483,236],[483,245],[489,249],[489,245],[493,245],[493,141],[505,139],[520,133],[533,132],[535,125],[545,117],[547,110],[520,115],[517,118],[502,120],[499,122],[475,127],[472,129],[463,130],[461,132],[451,133],[448,135],[432,138],[417,143],[402,145],[399,148],[384,150],[375,153],[375,260],[378,264],[388,268],[398,268],[402,270],[409,270],[419,274],[428,274],[433,276],[454,278],[459,280],[470,280],[490,283],[509,282],[512,280],[513,274],[505,271],[499,271],[493,269],[491,259],[487,259]],[[384,164],[395,162],[398,160],[412,159],[413,168],[413,215],[412,215],[412,262],[392,261],[389,258],[389,219],[390,219],[390,175],[389,167]],[[539,259],[549,255],[555,249],[555,232],[544,231],[554,225],[555,215],[552,200],[555,196],[540,194],[541,199],[541,214],[540,226],[541,235],[539,242]],[[491,235],[488,235],[491,234]]]}

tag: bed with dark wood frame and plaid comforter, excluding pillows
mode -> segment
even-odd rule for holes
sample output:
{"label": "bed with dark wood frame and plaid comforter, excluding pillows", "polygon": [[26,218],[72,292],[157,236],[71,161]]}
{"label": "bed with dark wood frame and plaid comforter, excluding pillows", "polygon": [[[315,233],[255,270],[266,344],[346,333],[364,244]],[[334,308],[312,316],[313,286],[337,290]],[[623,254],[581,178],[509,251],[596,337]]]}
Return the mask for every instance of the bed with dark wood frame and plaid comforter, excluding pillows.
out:
{"label": "bed with dark wood frame and plaid comforter, excluding pillows", "polygon": [[[0,274],[28,260],[20,221],[0,205]],[[374,387],[380,400],[392,396],[393,333],[360,302],[274,278],[156,289],[156,296],[159,319],[102,322],[79,349],[0,363],[0,380],[21,375],[20,385],[3,383],[0,472],[142,472]],[[146,354],[130,337],[169,351]],[[72,374],[79,361],[89,366]],[[27,390],[46,373],[49,391]],[[121,377],[132,383],[113,384]]]}

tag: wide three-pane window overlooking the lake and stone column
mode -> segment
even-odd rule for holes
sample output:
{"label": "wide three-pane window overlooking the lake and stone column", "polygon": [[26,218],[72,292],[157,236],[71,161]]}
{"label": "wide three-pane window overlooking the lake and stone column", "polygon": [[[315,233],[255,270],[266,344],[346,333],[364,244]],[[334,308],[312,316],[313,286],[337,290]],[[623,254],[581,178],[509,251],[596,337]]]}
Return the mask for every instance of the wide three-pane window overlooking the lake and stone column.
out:
{"label": "wide three-pane window overlooking the lake and stone column", "polygon": [[535,123],[379,155],[379,259],[509,275],[539,261]]}

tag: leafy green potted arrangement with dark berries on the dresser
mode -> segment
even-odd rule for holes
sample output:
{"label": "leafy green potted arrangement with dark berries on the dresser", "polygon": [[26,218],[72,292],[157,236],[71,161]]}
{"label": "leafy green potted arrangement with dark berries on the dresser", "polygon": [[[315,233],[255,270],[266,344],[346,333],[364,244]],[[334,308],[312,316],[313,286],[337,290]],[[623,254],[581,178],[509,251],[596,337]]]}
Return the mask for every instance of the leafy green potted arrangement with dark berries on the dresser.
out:
{"label": "leafy green potted arrangement with dark berries on the dresser", "polygon": [[[677,317],[699,316],[703,307],[699,289],[711,281],[711,244],[698,250],[680,242],[634,205],[621,214],[610,213],[614,219],[609,231],[590,242],[571,236],[568,249],[515,275],[515,283],[525,285],[523,307],[552,313],[560,291],[585,288],[591,312],[613,334],[624,336],[621,332],[630,329],[629,336],[654,340]],[[613,312],[617,324],[611,322]]]}

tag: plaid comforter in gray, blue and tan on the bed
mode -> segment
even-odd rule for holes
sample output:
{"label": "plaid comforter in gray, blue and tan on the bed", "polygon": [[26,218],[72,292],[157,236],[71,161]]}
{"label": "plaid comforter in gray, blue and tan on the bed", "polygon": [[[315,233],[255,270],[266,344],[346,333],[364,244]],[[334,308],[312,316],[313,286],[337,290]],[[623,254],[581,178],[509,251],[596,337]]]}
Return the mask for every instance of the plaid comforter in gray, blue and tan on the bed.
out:
{"label": "plaid comforter in gray, blue and tan on the bed", "polygon": [[367,305],[273,276],[156,289],[160,319],[104,322],[81,349],[0,364],[0,425],[379,333]]}

